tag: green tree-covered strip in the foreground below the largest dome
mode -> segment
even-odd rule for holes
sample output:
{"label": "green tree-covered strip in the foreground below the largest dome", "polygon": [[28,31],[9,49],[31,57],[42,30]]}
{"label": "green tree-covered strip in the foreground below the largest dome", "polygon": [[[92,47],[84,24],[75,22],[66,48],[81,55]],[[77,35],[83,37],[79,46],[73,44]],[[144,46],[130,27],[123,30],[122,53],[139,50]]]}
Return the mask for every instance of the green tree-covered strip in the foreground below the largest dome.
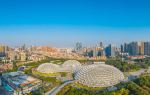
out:
{"label": "green tree-covered strip in the foreground below the largest dome", "polygon": [[127,83],[116,85],[115,91],[105,88],[88,88],[79,84],[69,84],[61,89],[57,95],[150,95],[150,76],[141,75],[139,78]]}

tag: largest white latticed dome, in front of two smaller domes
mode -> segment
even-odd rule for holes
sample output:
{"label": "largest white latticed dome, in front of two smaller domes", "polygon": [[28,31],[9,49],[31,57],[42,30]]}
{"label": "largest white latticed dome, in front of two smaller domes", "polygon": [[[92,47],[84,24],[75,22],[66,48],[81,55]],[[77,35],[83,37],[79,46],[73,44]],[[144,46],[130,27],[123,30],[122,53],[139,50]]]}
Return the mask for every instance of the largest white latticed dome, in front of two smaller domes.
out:
{"label": "largest white latticed dome, in front of two smaller domes", "polygon": [[109,87],[124,80],[123,73],[105,64],[82,66],[75,72],[75,79],[88,87]]}

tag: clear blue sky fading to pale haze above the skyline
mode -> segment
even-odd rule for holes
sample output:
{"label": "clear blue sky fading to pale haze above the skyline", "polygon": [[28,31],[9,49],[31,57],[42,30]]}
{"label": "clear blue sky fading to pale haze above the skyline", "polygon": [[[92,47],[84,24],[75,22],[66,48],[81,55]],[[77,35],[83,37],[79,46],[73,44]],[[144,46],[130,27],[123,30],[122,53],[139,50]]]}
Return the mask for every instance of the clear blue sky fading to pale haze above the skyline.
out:
{"label": "clear blue sky fading to pale haze above the skyline", "polygon": [[0,0],[0,43],[72,47],[150,40],[149,0]]}

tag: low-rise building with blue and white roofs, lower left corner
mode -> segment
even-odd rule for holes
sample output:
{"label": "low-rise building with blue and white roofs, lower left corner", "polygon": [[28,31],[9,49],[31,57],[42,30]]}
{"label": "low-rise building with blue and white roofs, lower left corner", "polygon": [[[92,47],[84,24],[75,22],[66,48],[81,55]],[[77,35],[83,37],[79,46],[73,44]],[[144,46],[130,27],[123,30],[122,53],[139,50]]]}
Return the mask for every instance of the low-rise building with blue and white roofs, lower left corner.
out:
{"label": "low-rise building with blue and white roofs, lower left corner", "polygon": [[23,72],[11,72],[2,75],[2,86],[8,95],[25,95],[37,90],[42,81],[24,74]]}

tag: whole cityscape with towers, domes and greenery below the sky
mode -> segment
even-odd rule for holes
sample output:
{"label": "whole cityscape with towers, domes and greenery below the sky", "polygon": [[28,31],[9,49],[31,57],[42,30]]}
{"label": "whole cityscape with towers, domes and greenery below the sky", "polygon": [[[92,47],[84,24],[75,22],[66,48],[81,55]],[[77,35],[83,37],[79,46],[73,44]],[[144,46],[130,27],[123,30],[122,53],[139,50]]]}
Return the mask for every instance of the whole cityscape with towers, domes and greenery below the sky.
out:
{"label": "whole cityscape with towers, domes and greenery below the sky", "polygon": [[150,42],[0,45],[0,95],[150,95]]}

